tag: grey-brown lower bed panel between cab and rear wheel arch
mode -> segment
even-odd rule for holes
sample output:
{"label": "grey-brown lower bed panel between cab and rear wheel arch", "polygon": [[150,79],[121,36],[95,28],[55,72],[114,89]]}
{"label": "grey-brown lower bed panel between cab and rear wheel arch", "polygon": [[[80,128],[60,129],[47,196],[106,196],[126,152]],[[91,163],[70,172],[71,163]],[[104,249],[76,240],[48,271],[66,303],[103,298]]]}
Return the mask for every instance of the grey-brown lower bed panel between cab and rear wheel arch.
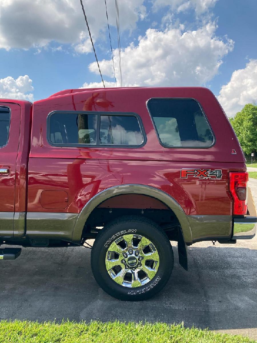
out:
{"label": "grey-brown lower bed panel between cab and rear wheel arch", "polygon": [[26,236],[71,240],[77,213],[28,212]]}

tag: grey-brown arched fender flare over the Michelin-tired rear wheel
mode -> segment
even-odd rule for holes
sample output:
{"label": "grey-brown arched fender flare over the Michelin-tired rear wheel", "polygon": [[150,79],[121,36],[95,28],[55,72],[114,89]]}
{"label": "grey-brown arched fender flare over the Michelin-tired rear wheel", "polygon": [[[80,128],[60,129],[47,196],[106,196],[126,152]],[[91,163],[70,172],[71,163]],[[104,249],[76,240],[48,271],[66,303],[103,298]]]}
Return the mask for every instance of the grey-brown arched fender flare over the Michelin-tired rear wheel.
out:
{"label": "grey-brown arched fender flare over the Michelin-tired rear wheel", "polygon": [[178,218],[184,242],[186,244],[193,243],[191,228],[187,216],[182,207],[180,206],[180,204],[175,199],[173,199],[169,194],[163,192],[160,189],[151,186],[136,184],[113,186],[102,190],[101,192],[97,193],[93,198],[91,198],[85,204],[85,206],[78,215],[78,218],[73,229],[72,241],[81,241],[82,231],[87,221],[87,218],[98,205],[100,205],[103,201],[107,199],[122,194],[142,194],[160,200],[162,203],[166,204],[168,208],[171,209]]}

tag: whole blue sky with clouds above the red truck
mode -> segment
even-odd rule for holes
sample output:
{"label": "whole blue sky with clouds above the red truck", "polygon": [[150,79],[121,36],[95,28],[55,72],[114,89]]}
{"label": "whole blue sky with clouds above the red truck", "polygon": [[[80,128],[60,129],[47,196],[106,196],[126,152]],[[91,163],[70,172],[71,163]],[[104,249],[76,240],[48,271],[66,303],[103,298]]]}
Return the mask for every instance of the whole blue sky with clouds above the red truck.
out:
{"label": "whole blue sky with clouds above the red truck", "polygon": [[[104,0],[84,0],[114,85]],[[207,86],[228,115],[257,100],[256,0],[119,0],[126,86]],[[107,0],[118,84],[114,0]],[[79,0],[2,0],[0,96],[38,100],[101,86]],[[27,76],[25,76],[27,75]]]}

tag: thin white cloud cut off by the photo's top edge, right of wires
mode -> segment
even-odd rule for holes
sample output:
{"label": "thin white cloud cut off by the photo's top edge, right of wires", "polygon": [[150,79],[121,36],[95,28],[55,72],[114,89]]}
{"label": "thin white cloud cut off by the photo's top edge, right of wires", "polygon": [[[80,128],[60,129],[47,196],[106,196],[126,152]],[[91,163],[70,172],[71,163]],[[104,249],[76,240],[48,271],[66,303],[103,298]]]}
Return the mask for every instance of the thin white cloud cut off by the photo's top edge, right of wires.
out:
{"label": "thin white cloud cut off by the photo's top edge, right of wires", "polygon": [[218,0],[154,0],[154,9],[169,6],[172,11],[185,12],[188,9],[195,10],[196,14],[203,14],[214,7]]}

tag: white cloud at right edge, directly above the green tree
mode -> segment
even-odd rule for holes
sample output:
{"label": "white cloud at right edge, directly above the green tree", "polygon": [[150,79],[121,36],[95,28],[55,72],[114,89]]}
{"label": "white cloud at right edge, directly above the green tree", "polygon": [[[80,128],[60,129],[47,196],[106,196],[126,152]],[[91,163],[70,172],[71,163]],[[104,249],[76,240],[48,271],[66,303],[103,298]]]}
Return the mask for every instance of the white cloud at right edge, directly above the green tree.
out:
{"label": "white cloud at right edge, directly above the green tree", "polygon": [[244,69],[235,70],[230,81],[221,87],[218,100],[228,117],[234,116],[247,103],[257,101],[257,60]]}

